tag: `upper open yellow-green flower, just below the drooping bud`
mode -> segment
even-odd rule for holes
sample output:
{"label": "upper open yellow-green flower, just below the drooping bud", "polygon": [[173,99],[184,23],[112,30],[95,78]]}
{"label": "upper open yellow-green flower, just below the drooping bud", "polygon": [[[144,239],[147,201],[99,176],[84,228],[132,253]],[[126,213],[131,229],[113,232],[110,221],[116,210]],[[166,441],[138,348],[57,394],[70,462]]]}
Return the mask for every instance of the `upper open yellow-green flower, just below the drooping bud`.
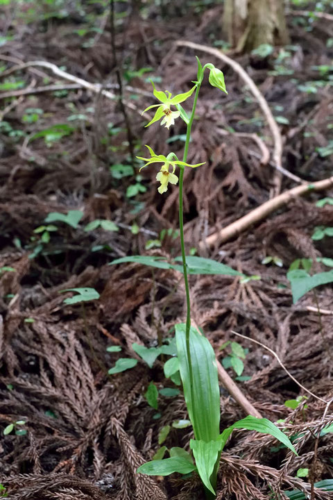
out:
{"label": "upper open yellow-green flower, just below the drooping bud", "polygon": [[156,90],[155,85],[153,82],[151,82],[153,85],[153,94],[154,96],[162,103],[161,104],[153,104],[152,106],[148,106],[143,113],[146,113],[146,111],[152,109],[152,108],[157,108],[155,116],[151,121],[146,124],[146,126],[149,126],[155,122],[158,122],[162,118],[161,125],[164,125],[169,128],[171,125],[175,124],[175,119],[180,117],[180,111],[172,111],[171,106],[176,106],[176,104],[179,104],[181,102],[186,101],[188,97],[193,94],[196,85],[189,90],[189,92],[185,92],[184,94],[178,94],[175,97],[171,97],[171,92],[167,91],[167,94],[165,92],[162,92],[162,90]]}

